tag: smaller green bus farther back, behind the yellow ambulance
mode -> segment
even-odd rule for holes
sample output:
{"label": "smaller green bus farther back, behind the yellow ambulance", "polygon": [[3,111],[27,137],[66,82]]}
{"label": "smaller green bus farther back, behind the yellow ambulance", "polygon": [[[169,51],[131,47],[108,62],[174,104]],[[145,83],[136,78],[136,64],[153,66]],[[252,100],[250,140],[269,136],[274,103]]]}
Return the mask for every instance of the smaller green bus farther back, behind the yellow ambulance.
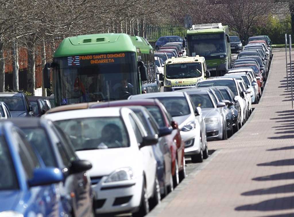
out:
{"label": "smaller green bus farther back, behind the yellow ambulance", "polygon": [[203,56],[212,75],[220,76],[231,66],[228,26],[221,23],[193,25],[187,30],[188,56]]}

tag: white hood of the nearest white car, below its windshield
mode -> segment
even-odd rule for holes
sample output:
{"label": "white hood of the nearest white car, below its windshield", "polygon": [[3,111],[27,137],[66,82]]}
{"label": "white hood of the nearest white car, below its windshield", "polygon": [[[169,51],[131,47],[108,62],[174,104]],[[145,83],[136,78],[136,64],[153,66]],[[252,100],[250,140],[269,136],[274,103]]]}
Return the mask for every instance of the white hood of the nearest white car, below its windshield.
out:
{"label": "white hood of the nearest white car, below its windshield", "polygon": [[141,156],[138,153],[140,151],[130,147],[76,151],[81,160],[88,160],[92,164],[92,168],[88,171],[90,177],[109,175],[118,168],[133,168],[140,162],[136,159]]}

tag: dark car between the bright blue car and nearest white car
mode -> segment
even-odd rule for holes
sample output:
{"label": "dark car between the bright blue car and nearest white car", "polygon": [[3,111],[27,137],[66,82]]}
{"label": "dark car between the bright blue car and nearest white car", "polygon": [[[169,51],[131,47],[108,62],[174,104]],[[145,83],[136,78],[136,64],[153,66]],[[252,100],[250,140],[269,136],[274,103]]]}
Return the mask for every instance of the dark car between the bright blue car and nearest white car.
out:
{"label": "dark car between the bright blue car and nearest white car", "polygon": [[47,167],[57,167],[64,174],[60,185],[61,201],[66,213],[75,217],[93,216],[93,194],[87,170],[91,163],[79,160],[68,136],[51,121],[43,118],[10,119],[26,135]]}

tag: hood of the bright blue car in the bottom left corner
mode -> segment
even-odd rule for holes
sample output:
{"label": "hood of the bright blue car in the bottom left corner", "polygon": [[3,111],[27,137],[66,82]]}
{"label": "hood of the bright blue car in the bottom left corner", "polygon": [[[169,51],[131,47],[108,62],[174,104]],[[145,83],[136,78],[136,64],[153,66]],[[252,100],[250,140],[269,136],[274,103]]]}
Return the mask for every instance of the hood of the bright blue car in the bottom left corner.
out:
{"label": "hood of the bright blue car in the bottom left corner", "polygon": [[23,198],[23,193],[19,190],[0,191],[0,212],[16,210],[19,201]]}

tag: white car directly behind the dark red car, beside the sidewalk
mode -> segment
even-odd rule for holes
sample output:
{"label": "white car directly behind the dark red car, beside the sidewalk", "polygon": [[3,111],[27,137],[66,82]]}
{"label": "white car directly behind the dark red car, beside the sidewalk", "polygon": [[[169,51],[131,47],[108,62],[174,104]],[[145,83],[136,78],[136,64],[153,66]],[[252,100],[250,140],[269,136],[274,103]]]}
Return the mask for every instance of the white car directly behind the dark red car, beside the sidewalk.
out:
{"label": "white car directly behind the dark red car, beside the sidewalk", "polygon": [[156,98],[178,123],[185,142],[185,156],[191,156],[193,163],[208,158],[206,126],[200,107],[192,104],[186,92],[159,92],[130,96],[129,99]]}

